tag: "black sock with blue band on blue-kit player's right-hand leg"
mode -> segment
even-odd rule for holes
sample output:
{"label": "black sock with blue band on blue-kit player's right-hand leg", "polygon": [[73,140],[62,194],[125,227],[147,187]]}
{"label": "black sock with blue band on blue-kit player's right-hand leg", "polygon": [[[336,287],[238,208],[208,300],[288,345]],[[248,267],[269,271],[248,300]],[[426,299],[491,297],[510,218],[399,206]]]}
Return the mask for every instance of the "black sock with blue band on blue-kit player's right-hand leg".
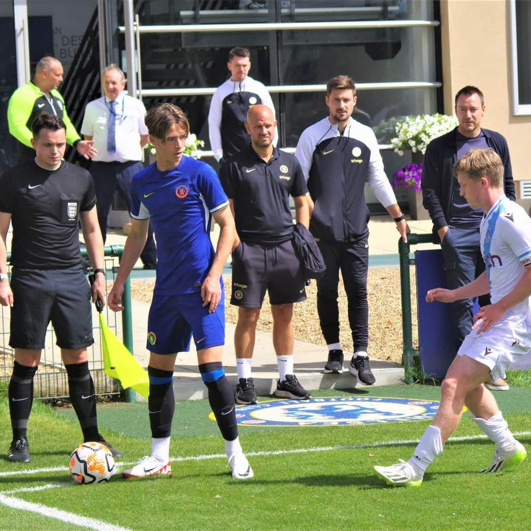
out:
{"label": "black sock with blue band on blue-kit player's right-hand leg", "polygon": [[226,441],[234,441],[238,436],[234,393],[225,376],[221,362],[199,365],[201,378],[208,388],[208,401],[218,423],[219,431]]}

